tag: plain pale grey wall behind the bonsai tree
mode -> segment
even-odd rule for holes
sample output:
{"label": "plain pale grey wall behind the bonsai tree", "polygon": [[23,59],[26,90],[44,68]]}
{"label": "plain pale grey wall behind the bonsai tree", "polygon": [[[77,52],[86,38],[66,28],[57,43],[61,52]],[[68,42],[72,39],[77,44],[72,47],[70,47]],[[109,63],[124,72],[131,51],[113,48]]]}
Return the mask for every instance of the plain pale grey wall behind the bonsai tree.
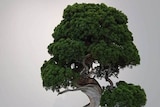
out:
{"label": "plain pale grey wall behind the bonsai tree", "polygon": [[[119,80],[141,85],[145,107],[160,105],[160,12],[158,0],[1,0],[0,107],[82,107],[81,92],[57,96],[42,87],[40,67],[64,8],[75,2],[105,3],[122,10],[141,55],[141,65],[121,70]],[[104,82],[102,82],[104,84]]]}

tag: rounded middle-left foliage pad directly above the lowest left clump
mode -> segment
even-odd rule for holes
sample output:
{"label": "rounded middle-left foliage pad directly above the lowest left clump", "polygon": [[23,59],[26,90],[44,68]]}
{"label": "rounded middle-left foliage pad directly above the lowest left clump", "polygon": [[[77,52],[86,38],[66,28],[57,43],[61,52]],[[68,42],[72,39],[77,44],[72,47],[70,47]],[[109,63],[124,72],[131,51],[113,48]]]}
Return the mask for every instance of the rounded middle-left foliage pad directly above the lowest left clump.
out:
{"label": "rounded middle-left foliage pad directly above the lowest left clump", "polygon": [[72,61],[80,61],[84,56],[85,50],[82,41],[75,41],[69,38],[60,39],[48,46],[48,52],[57,58],[57,62],[61,64],[69,64]]}

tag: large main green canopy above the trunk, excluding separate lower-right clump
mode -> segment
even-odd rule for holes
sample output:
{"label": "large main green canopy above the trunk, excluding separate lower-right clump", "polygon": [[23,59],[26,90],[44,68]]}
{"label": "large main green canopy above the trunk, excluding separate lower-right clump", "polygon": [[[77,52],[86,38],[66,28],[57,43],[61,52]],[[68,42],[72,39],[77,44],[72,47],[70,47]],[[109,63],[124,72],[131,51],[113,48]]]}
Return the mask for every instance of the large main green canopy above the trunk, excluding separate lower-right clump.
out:
{"label": "large main green canopy above the trunk, excluding separate lower-right clump", "polygon": [[[43,86],[53,90],[72,86],[87,54],[104,66],[123,68],[139,64],[127,20],[121,11],[103,3],[69,5],[54,29],[53,43],[48,46],[52,58],[41,67]],[[76,70],[71,67],[73,64]]]}

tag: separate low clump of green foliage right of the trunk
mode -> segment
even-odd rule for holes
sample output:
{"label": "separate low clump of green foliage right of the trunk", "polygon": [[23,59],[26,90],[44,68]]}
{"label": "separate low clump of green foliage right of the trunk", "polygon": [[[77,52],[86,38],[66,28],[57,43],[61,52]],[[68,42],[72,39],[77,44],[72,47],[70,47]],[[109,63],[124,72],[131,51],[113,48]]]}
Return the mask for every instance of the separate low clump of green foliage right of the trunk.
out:
{"label": "separate low clump of green foliage right of the trunk", "polygon": [[117,83],[112,92],[105,90],[101,97],[101,106],[105,107],[142,107],[146,103],[144,90],[133,84],[124,81]]}

